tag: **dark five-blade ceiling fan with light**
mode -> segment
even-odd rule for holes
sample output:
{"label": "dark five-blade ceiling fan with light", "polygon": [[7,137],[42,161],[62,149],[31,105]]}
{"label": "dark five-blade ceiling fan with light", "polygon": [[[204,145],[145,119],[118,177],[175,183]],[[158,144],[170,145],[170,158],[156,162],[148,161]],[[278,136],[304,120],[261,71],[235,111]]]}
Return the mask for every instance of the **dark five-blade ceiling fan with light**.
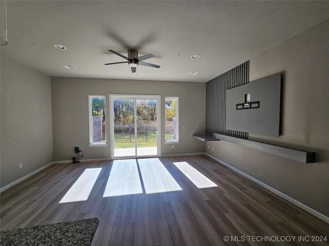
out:
{"label": "dark five-blade ceiling fan with light", "polygon": [[142,55],[138,56],[138,51],[137,50],[129,50],[128,51],[128,57],[125,55],[122,55],[114,50],[108,50],[109,52],[112,52],[118,56],[121,56],[122,58],[126,59],[127,61],[120,61],[119,63],[107,63],[104,65],[113,65],[113,64],[121,64],[121,63],[127,63],[129,67],[132,69],[132,73],[136,73],[136,68],[137,65],[142,65],[142,66],[147,66],[147,67],[152,67],[152,68],[159,68],[160,66],[154,65],[151,63],[145,63],[143,60],[149,59],[154,57],[152,54],[147,54],[147,55]]}

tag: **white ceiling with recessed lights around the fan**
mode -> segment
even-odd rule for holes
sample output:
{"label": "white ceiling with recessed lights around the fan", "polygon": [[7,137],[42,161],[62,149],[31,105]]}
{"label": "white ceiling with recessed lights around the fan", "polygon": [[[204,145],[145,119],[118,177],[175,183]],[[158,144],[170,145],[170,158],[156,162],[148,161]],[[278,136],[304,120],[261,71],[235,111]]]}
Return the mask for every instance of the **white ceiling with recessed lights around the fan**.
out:
{"label": "white ceiling with recessed lights around the fan", "polygon": [[[329,1],[8,1],[1,54],[49,76],[207,82],[328,18]],[[161,67],[105,66],[124,61],[109,49]]]}

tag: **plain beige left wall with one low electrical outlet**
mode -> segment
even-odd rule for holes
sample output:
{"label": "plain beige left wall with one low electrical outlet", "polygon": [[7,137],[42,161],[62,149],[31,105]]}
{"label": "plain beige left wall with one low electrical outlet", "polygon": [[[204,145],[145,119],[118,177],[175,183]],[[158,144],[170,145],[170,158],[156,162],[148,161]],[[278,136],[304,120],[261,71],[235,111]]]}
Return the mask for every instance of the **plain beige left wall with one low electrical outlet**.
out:
{"label": "plain beige left wall with one low electrical outlet", "polygon": [[1,187],[52,160],[50,77],[1,55]]}

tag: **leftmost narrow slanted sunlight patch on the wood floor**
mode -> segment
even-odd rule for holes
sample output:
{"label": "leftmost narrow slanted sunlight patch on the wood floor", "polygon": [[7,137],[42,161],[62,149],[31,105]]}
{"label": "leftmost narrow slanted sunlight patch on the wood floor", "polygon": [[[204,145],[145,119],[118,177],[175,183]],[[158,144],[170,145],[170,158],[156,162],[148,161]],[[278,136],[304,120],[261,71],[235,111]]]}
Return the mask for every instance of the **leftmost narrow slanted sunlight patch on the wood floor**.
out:
{"label": "leftmost narrow slanted sunlight patch on the wood floor", "polygon": [[88,168],[66,192],[59,203],[86,201],[92,192],[101,168]]}

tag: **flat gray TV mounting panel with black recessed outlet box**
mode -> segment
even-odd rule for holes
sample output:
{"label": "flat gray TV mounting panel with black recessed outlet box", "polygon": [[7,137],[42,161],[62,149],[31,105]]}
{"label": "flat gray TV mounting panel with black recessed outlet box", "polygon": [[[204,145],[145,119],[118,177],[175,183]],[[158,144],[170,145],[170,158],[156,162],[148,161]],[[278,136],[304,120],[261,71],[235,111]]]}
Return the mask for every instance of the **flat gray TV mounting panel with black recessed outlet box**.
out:
{"label": "flat gray TV mounting panel with black recessed outlet box", "polygon": [[[281,74],[274,74],[226,91],[226,130],[279,136]],[[236,109],[245,103],[259,102],[259,108]],[[248,104],[248,106],[250,106]]]}

